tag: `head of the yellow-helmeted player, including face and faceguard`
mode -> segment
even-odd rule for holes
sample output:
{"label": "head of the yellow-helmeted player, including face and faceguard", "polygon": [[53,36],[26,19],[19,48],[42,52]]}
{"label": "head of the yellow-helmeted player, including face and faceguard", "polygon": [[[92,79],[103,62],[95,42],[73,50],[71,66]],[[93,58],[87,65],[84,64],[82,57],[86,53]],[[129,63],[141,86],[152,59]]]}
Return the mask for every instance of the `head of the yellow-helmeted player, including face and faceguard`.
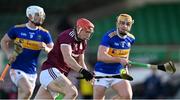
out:
{"label": "head of the yellow-helmeted player, including face and faceguard", "polygon": [[[126,32],[131,30],[131,26],[134,23],[132,17],[128,14],[120,14],[117,18],[116,27],[118,34],[125,35]],[[122,28],[121,25],[125,25],[127,28]]]}

